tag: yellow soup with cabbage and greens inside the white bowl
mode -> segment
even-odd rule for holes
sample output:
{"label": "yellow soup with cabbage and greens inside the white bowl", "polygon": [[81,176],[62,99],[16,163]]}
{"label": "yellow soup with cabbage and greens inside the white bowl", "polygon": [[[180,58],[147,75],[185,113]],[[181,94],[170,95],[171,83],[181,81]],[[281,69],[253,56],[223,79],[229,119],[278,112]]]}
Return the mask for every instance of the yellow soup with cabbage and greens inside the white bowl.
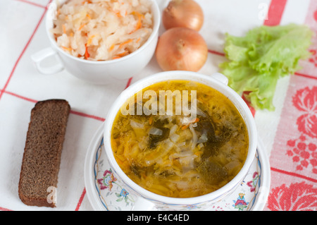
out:
{"label": "yellow soup with cabbage and greens inside the white bowl", "polygon": [[[157,101],[153,96],[137,101],[137,95],[147,90],[156,93]],[[187,91],[188,107],[196,109],[196,115],[178,114],[184,104],[175,96],[173,113],[163,111],[168,101],[162,105],[160,90]],[[225,186],[242,168],[249,147],[247,126],[235,105],[217,90],[170,80],[144,88],[131,101],[130,112],[135,113],[118,112],[111,147],[120,168],[142,188],[167,197],[196,197]],[[147,109],[149,101],[151,114],[144,110],[137,114],[137,109]]]}

